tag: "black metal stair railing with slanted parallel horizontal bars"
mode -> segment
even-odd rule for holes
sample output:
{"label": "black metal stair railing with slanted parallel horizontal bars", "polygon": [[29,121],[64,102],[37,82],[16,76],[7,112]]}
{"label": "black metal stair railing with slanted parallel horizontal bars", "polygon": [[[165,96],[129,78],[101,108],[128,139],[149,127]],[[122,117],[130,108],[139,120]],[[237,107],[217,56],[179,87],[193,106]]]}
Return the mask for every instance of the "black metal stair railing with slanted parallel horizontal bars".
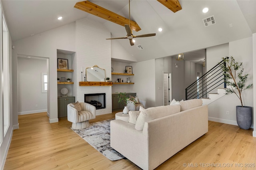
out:
{"label": "black metal stair railing with slanted parallel horizontal bars", "polygon": [[220,61],[185,89],[186,100],[207,98],[208,94],[217,88],[226,88],[225,77],[220,67],[223,62],[224,60]]}

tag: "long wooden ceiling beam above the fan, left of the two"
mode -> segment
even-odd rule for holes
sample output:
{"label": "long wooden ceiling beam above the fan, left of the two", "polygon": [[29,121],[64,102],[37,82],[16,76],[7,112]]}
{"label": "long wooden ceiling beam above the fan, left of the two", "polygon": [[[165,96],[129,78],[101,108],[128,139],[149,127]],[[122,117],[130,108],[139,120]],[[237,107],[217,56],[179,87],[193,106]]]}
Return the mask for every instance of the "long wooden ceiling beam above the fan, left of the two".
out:
{"label": "long wooden ceiling beam above the fan, left of the two", "polygon": [[[124,24],[129,25],[129,19],[127,19],[123,16],[120,16],[110,10],[102,8],[92,2],[89,2],[89,1],[77,2],[76,5],[74,6],[74,8],[77,8],[84,12],[88,12],[90,14],[93,14],[93,15],[103,18],[105,20],[114,22],[121,26],[124,26]],[[130,21],[130,28],[136,32],[141,30],[140,26],[138,26],[138,24],[134,21]]]}

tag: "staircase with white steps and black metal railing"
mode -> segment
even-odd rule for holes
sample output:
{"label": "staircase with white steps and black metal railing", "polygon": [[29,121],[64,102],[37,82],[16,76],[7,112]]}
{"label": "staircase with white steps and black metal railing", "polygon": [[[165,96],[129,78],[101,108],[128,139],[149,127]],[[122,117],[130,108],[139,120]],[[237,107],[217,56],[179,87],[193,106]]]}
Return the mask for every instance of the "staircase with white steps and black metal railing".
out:
{"label": "staircase with white steps and black metal railing", "polygon": [[225,77],[220,67],[222,62],[224,61],[220,61],[186,88],[186,100],[202,99],[203,105],[208,105],[225,95]]}

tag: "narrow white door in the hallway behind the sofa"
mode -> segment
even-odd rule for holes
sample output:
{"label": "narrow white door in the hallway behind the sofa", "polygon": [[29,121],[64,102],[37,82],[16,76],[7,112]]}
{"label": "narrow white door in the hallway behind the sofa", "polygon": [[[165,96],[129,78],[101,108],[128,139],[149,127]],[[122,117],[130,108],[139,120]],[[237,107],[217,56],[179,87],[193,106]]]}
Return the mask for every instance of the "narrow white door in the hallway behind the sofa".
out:
{"label": "narrow white door in the hallway behind the sofa", "polygon": [[172,74],[164,73],[164,83],[163,83],[163,93],[164,93],[164,106],[170,105],[172,100]]}

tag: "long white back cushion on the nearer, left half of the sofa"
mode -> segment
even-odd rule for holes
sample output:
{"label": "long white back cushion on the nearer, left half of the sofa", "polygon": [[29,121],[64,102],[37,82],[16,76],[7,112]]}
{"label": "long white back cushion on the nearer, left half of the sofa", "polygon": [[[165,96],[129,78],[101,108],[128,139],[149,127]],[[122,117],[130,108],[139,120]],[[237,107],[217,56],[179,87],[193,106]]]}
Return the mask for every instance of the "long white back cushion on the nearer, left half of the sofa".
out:
{"label": "long white back cushion on the nearer, left half of the sofa", "polygon": [[180,105],[150,107],[140,112],[135,124],[135,129],[143,130],[145,122],[178,112],[180,112]]}

